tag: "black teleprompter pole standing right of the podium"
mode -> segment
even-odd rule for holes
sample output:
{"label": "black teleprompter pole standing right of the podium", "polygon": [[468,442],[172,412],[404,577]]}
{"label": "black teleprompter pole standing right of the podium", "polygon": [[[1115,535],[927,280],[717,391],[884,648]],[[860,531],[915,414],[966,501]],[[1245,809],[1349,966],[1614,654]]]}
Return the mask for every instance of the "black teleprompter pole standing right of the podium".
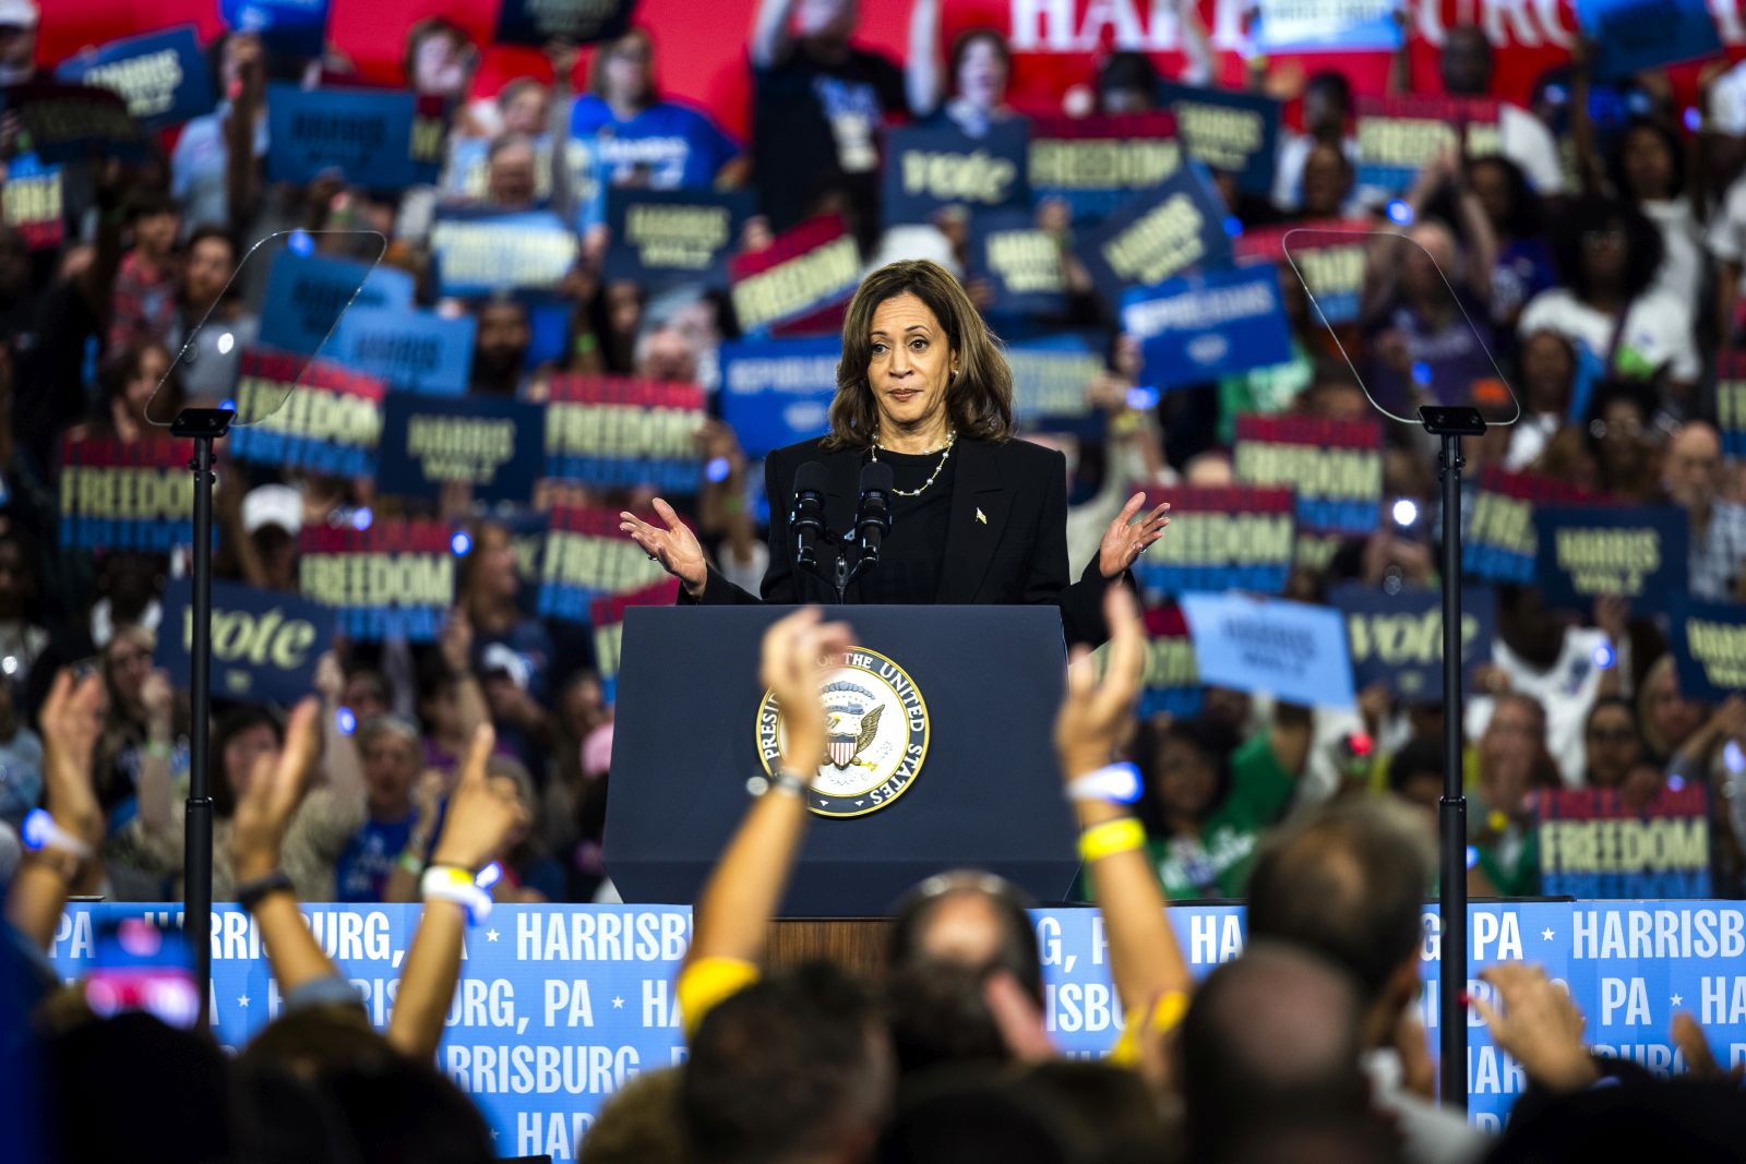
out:
{"label": "black teleprompter pole standing right of the podium", "polygon": [[1442,438],[1442,801],[1439,916],[1442,949],[1437,976],[1437,1026],[1442,1101],[1467,1112],[1467,796],[1461,791],[1461,438],[1481,436],[1477,408],[1423,407],[1425,431]]}

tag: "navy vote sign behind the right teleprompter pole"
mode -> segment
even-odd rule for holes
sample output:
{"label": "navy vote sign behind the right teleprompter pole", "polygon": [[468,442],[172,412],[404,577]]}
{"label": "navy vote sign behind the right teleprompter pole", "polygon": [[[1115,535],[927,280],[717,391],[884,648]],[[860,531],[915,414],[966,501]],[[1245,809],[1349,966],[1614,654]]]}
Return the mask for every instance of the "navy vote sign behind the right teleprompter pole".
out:
{"label": "navy vote sign behind the right teleprompter pole", "polygon": [[[1175,525],[1175,522],[1172,522]],[[1442,695],[1442,592],[1400,590],[1346,583],[1334,586],[1329,604],[1346,616],[1351,637],[1351,682],[1360,691],[1385,684],[1413,703],[1435,703]],[[1491,586],[1461,590],[1461,675],[1474,689],[1474,670],[1491,661],[1498,635],[1498,593]]]}

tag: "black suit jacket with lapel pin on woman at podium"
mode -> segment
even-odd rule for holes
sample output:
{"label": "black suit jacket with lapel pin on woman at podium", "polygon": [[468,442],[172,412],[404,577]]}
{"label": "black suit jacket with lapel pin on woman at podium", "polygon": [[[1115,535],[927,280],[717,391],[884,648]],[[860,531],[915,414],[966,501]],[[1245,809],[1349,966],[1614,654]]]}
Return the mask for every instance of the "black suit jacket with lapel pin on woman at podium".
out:
{"label": "black suit jacket with lapel pin on woman at podium", "polygon": [[[864,448],[824,452],[822,438],[777,448],[765,459],[765,492],[770,497],[770,567],[761,597],[740,590],[714,569],[702,599],[683,588],[681,606],[740,606],[747,602],[835,604],[836,592],[824,579],[794,569],[794,544],[787,518],[794,497],[794,473],[817,461],[826,471],[824,524],[842,536],[854,525],[861,501]],[[1051,604],[1062,609],[1069,644],[1100,644],[1109,639],[1103,623],[1103,590],[1109,579],[1093,558],[1079,581],[1067,564],[1067,457],[1025,440],[1000,443],[960,438],[952,448],[952,515],[946,553],[941,562],[943,606]],[[983,520],[978,520],[981,513]],[[821,546],[822,550],[822,546]],[[828,553],[821,558],[828,560]],[[1121,576],[1133,586],[1133,576]],[[852,592],[850,592],[852,593]]]}

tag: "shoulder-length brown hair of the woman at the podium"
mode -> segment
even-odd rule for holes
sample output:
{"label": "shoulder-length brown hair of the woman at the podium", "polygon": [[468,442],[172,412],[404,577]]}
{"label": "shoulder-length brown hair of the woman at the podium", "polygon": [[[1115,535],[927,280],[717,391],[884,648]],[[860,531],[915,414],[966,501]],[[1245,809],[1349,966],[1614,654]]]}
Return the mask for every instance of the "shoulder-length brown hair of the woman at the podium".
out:
{"label": "shoulder-length brown hair of the woman at the podium", "polygon": [[952,272],[927,258],[904,258],[870,274],[849,300],[843,319],[843,358],[836,365],[836,398],[824,448],[864,448],[878,433],[878,405],[868,384],[873,361],[873,312],[897,295],[922,300],[946,347],[959,356],[959,373],[946,384],[946,414],[959,436],[1004,442],[1013,436],[1013,368],[1000,340],[964,293]]}

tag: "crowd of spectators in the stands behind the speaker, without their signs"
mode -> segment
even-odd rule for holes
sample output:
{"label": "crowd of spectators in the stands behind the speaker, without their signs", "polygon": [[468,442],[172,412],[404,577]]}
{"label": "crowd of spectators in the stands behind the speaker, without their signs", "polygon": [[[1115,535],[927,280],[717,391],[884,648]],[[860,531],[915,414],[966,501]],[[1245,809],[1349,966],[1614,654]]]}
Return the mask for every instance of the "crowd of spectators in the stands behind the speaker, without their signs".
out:
{"label": "crowd of spectators in the stands behind the speaker, without their signs", "polygon": [[[10,0],[0,16],[0,75],[38,77],[35,3]],[[253,239],[283,229],[377,229],[391,239],[384,262],[419,279],[430,304],[433,208],[559,206],[578,222],[580,244],[559,291],[567,330],[553,359],[529,365],[524,298],[438,304],[477,323],[470,391],[541,400],[552,375],[609,372],[697,382],[716,401],[718,353],[739,332],[728,297],[719,288],[650,297],[636,283],[608,279],[608,232],[580,225],[580,187],[747,188],[758,208],[742,239],[749,251],[835,211],[870,265],[896,248],[969,277],[960,216],[943,215],[931,227],[882,223],[882,127],[934,120],[981,134],[1032,112],[1058,112],[1007,103],[1013,59],[997,30],[941,44],[938,0],[915,2],[911,51],[901,66],[861,47],[856,21],[852,0],[760,3],[749,30],[751,140],[742,143],[709,113],[663,98],[660,40],[684,35],[679,30],[634,28],[594,47],[581,86],[574,86],[578,51],[552,45],[548,72],[482,94],[480,45],[452,23],[423,19],[405,35],[405,86],[445,103],[456,166],[484,161],[477,173],[407,190],[356,188],[344,175],[307,187],[269,181],[269,79],[342,86],[349,63],[332,51],[318,61],[283,59],[251,33],[227,33],[208,45],[217,91],[225,94],[217,112],[182,126],[173,141],[166,136],[145,162],[70,168],[77,180],[63,187],[63,243],[33,248],[17,229],[0,225],[3,867],[17,867],[17,829],[49,784],[38,716],[54,675],[96,658],[107,698],[91,778],[105,880],[93,888],[120,900],[180,894],[189,705],[155,667],[154,640],[166,630],[164,585],[187,572],[187,555],[61,544],[58,450],[66,436],[141,442],[176,405],[230,394],[239,354],[260,326],[251,298],[258,288],[236,277]],[[1166,80],[1213,84],[1219,70],[1194,5],[1184,5],[1182,24],[1189,65],[1180,77],[1161,77],[1137,52],[1096,61],[1090,80],[1098,113],[1158,108]],[[1491,44],[1481,30],[1449,30],[1440,61],[1446,92],[1491,91]],[[1433,79],[1409,72],[1402,52],[1390,80],[1397,92],[1432,86]],[[1533,471],[1624,503],[1678,506],[1690,522],[1692,595],[1746,600],[1746,475],[1739,459],[1723,455],[1715,394],[1715,358],[1732,351],[1743,319],[1741,73],[1725,61],[1706,68],[1694,122],[1664,75],[1603,86],[1578,47],[1531,106],[1503,105],[1502,152],[1446,154],[1400,199],[1357,183],[1355,96],[1341,73],[1269,72],[1255,58],[1245,82],[1285,98],[1297,127],[1282,134],[1271,195],[1241,194],[1229,175],[1215,175],[1233,222],[1266,227],[1374,215],[1378,229],[1400,229],[1458,288],[1460,321],[1447,300],[1426,293],[1440,286],[1435,269],[1378,264],[1358,323],[1336,337],[1280,264],[1290,359],[1159,396],[1131,391],[1142,387],[1138,344],[1119,333],[1112,305],[1083,272],[1070,277],[1070,321],[1109,337],[1107,368],[1084,389],[1100,435],[1028,436],[1069,454],[1074,567],[1095,553],[1096,531],[1131,485],[1229,483],[1238,415],[1369,415],[1364,373],[1374,373],[1364,375],[1372,386],[1390,375],[1411,382],[1421,370],[1447,382],[1495,365],[1514,384],[1523,419],[1472,440],[1470,471]],[[574,140],[592,143],[594,173],[564,164],[559,147]],[[16,133],[0,148],[5,166],[21,164]],[[1390,225],[1402,220],[1411,225]],[[1041,204],[1037,225],[1070,246],[1076,225],[1062,206]],[[210,319],[223,326],[201,326]],[[178,359],[190,339],[197,358]],[[1432,513],[1433,455],[1404,426],[1385,433],[1383,494]],[[681,517],[725,578],[756,590],[766,560],[756,517],[760,475],[719,419],[705,426],[698,459],[709,480]],[[615,510],[643,510],[655,490],[581,492]],[[416,503],[379,499],[370,480],[241,464],[220,445],[218,576],[293,592],[300,532],[346,522],[370,504],[377,513],[421,511]],[[526,813],[499,897],[613,900],[601,864],[613,709],[594,637],[587,627],[533,613],[529,564],[517,553],[512,518],[464,496],[445,497],[435,513],[471,534],[454,609],[435,644],[337,642],[323,661],[321,780],[290,822],[286,873],[307,900],[416,899],[452,815],[445,805],[461,756],[489,724],[492,773]],[[1330,562],[1296,569],[1287,595],[1320,602],[1343,581],[1392,590],[1433,585],[1430,527],[1385,517]],[[1472,888],[1538,892],[1538,791],[1620,789],[1645,805],[1676,782],[1708,791],[1715,890],[1746,890],[1739,750],[1746,698],[1706,705],[1681,693],[1664,620],[1619,599],[1601,599],[1577,618],[1547,609],[1531,585],[1496,592],[1498,642],[1477,675],[1465,724],[1468,785],[1479,803],[1470,811]],[[1435,747],[1440,714],[1440,703],[1413,703],[1383,686],[1364,689],[1353,710],[1208,689],[1200,714],[1138,724],[1121,749],[1145,778],[1140,817],[1154,874],[1177,897],[1243,897],[1264,839],[1325,801],[1432,808],[1444,766]],[[1358,735],[1374,742],[1364,763],[1353,761],[1350,745]],[[225,839],[241,825],[257,763],[285,756],[286,747],[285,709],[218,702],[211,756],[220,900],[243,880]]]}

